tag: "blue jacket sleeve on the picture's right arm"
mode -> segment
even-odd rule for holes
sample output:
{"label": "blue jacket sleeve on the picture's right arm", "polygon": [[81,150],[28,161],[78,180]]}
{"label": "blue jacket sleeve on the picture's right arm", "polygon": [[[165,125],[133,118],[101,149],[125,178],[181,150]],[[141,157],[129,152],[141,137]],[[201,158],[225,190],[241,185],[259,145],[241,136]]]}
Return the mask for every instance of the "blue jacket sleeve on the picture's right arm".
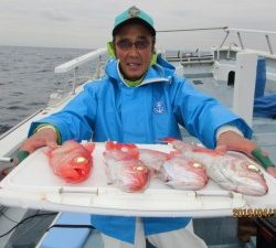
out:
{"label": "blue jacket sleeve on the picture's right arm", "polygon": [[173,112],[178,122],[204,145],[216,145],[216,130],[225,125],[238,128],[244,137],[251,138],[252,130],[246,122],[216,99],[194,89],[191,84],[174,77],[171,87]]}

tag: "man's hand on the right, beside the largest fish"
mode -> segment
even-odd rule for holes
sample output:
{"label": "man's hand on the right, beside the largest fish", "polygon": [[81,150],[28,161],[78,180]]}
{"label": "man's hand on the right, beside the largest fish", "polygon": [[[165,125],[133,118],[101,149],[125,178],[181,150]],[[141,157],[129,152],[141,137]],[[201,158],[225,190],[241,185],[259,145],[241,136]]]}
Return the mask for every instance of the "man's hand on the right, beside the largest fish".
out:
{"label": "man's hand on the right, beside the largest fish", "polygon": [[[253,158],[252,151],[257,148],[257,144],[234,131],[226,131],[219,136],[217,147],[226,147],[227,151],[243,152],[250,158]],[[267,155],[265,151],[262,151],[264,155]],[[253,158],[254,159],[254,158]],[[276,177],[276,168],[269,166],[266,169],[267,173]]]}

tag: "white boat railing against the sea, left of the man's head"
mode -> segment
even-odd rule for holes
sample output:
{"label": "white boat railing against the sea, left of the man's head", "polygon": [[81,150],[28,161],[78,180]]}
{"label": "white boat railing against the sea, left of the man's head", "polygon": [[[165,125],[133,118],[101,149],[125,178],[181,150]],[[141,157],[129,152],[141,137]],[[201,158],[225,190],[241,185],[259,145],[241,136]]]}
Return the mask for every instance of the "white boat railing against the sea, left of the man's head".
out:
{"label": "white boat railing against the sea, left of the man's head", "polygon": [[73,86],[72,86],[71,93],[75,94],[79,66],[88,62],[97,61],[96,73],[94,77],[99,78],[102,76],[103,66],[104,66],[104,61],[103,61],[104,55],[107,55],[107,48],[97,48],[91,53],[84,54],[79,57],[76,57],[72,61],[68,61],[62,65],[56,66],[54,68],[54,72],[55,73],[68,73],[68,72],[74,71],[74,79],[73,79]]}

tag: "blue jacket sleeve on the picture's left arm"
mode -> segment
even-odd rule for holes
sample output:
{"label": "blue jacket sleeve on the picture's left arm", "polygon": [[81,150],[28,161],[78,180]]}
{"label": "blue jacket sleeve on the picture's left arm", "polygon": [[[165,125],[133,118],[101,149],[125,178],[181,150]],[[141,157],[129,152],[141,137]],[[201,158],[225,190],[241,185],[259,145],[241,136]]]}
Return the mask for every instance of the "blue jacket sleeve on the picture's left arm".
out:
{"label": "blue jacket sleeve on the picture's left arm", "polygon": [[41,123],[53,125],[61,134],[61,141],[74,139],[77,141],[92,138],[95,116],[97,112],[98,83],[92,83],[71,100],[61,111],[32,122],[29,137]]}

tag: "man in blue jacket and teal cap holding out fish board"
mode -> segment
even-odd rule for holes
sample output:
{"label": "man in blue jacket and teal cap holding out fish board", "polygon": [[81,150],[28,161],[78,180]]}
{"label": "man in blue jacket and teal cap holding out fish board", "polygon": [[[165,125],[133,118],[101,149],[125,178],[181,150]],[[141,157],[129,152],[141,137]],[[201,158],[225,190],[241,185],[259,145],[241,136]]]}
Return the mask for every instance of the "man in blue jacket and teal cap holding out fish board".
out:
{"label": "man in blue jacket and teal cap holding out fish board", "polygon": [[[131,7],[115,19],[114,56],[106,76],[87,84],[62,111],[32,123],[21,150],[33,152],[68,139],[156,143],[160,138],[181,139],[179,123],[203,144],[247,154],[256,144],[247,125],[174,75],[174,67],[155,53],[152,19]],[[274,171],[274,170],[272,170]],[[145,247],[145,236],[159,248],[206,247],[189,228],[190,218],[135,218],[92,216],[105,247]]]}

